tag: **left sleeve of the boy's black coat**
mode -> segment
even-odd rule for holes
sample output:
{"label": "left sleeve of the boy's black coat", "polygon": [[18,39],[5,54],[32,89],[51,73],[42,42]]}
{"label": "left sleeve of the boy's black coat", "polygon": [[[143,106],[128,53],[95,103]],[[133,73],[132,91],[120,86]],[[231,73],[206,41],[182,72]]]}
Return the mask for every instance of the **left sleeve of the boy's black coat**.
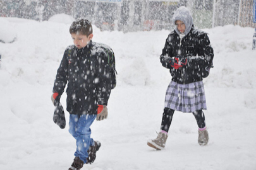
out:
{"label": "left sleeve of the boy's black coat", "polygon": [[52,89],[53,93],[63,94],[64,88],[66,86],[66,82],[68,80],[68,59],[66,57],[67,50],[64,52],[63,59],[61,60],[61,64],[59,65],[59,69],[56,74],[56,79],[54,81],[54,86]]}

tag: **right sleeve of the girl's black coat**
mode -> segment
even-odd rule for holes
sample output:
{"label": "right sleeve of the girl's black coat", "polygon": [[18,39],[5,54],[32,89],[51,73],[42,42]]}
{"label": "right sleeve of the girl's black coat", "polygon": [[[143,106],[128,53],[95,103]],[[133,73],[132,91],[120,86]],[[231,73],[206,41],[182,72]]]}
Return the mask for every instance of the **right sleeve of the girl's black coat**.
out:
{"label": "right sleeve of the girl's black coat", "polygon": [[206,33],[199,35],[197,56],[187,56],[189,67],[198,67],[209,65],[212,67],[212,60],[214,57],[213,48],[210,45],[209,37]]}

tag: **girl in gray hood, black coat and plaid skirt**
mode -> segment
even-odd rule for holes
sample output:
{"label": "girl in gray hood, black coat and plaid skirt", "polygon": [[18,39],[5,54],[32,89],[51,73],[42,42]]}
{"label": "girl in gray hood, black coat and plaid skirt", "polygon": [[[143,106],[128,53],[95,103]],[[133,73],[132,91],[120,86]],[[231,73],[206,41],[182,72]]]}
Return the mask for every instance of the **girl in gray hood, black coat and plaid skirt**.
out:
{"label": "girl in gray hood, black coat and plaid skirt", "polygon": [[160,61],[169,69],[172,79],[166,90],[161,131],[147,144],[157,150],[164,149],[174,111],[193,113],[198,125],[198,144],[207,145],[209,134],[202,110],[207,110],[204,77],[209,75],[214,57],[207,33],[194,28],[190,11],[181,6],[173,16],[176,25],[168,38]]}

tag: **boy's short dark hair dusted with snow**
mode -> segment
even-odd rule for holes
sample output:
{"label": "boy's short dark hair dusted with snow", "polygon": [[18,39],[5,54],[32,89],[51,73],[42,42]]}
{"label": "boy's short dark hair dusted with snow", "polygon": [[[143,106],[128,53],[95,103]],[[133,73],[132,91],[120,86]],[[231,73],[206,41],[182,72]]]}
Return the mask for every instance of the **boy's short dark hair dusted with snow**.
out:
{"label": "boy's short dark hair dusted with snow", "polygon": [[70,26],[71,33],[80,33],[88,37],[92,33],[92,24],[86,19],[77,19]]}

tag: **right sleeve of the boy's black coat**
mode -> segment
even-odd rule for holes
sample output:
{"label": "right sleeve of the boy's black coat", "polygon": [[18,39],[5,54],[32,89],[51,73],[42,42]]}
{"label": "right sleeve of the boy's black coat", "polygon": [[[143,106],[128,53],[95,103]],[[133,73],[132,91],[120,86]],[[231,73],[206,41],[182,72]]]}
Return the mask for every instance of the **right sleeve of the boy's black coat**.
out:
{"label": "right sleeve of the boy's black coat", "polygon": [[97,61],[95,62],[95,84],[97,84],[98,105],[107,105],[111,93],[110,68],[106,55],[106,52],[99,53],[99,55],[97,55]]}

